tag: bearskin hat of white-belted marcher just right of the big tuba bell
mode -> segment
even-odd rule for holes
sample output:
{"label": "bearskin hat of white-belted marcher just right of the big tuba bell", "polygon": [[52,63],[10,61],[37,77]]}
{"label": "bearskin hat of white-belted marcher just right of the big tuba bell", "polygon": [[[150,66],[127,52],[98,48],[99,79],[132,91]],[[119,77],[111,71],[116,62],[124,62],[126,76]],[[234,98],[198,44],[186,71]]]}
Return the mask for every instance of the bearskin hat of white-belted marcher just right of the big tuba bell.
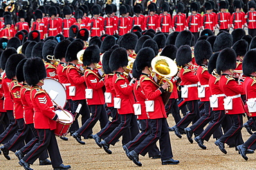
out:
{"label": "bearskin hat of white-belted marcher just right of the big tuba bell", "polygon": [[176,53],[176,63],[179,66],[188,64],[192,61],[192,51],[189,45],[181,45]]}

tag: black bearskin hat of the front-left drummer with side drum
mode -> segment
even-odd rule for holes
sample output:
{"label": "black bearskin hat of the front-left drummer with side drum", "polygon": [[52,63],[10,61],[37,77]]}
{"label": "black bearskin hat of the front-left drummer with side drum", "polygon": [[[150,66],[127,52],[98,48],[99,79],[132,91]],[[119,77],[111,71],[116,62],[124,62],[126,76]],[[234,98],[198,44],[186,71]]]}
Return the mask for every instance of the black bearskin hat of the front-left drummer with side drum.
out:
{"label": "black bearskin hat of the front-left drummer with side drum", "polygon": [[47,76],[44,61],[39,57],[29,58],[24,64],[23,72],[26,83],[33,86]]}

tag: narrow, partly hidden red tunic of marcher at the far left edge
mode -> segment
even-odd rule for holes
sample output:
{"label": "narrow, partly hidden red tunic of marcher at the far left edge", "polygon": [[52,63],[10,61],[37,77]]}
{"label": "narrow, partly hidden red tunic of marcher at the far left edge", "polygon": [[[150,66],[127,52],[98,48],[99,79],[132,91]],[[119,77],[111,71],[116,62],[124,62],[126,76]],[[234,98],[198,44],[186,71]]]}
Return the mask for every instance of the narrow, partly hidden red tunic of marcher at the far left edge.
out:
{"label": "narrow, partly hidden red tunic of marcher at the far left edge", "polygon": [[13,110],[13,101],[9,91],[9,86],[11,81],[12,80],[6,77],[6,73],[4,73],[2,87],[3,87],[3,93],[4,93],[3,109],[5,110]]}

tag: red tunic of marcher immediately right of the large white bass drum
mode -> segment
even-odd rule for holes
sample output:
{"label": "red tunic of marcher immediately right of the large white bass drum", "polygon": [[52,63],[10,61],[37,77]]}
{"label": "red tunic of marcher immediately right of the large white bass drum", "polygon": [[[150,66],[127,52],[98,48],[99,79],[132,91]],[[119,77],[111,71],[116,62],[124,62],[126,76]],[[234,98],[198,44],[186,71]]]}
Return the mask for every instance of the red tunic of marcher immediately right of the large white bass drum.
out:
{"label": "red tunic of marcher immediately right of the large white bass drum", "polygon": [[65,87],[66,89],[66,99],[71,99],[71,96],[69,96],[69,90],[68,87],[71,85],[68,81],[68,76],[66,76],[66,69],[67,69],[67,65],[65,63],[60,63],[57,66],[57,76],[58,76],[58,80],[60,81],[60,83],[62,83],[62,85]]}

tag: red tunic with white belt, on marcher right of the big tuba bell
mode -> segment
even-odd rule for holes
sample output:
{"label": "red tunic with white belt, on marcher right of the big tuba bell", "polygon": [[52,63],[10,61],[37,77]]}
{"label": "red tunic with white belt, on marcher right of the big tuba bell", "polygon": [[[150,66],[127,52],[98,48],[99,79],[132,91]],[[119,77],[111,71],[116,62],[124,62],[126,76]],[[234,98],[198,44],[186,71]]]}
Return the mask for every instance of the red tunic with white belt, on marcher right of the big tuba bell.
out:
{"label": "red tunic with white belt, on marcher right of the big tuba bell", "polygon": [[[198,83],[198,78],[191,70],[190,67],[181,68],[181,85],[194,85]],[[184,98],[185,101],[198,100],[197,86],[188,87],[188,98]]]}

